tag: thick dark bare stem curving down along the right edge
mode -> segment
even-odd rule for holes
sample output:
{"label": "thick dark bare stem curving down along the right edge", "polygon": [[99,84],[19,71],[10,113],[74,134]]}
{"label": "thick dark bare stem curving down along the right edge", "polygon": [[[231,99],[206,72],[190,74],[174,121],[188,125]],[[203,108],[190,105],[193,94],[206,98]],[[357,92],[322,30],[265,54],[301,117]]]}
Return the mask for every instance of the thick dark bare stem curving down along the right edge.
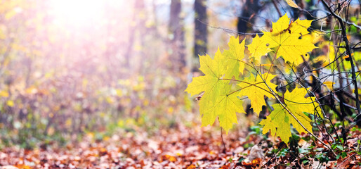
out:
{"label": "thick dark bare stem curving down along the right edge", "polygon": [[361,108],[360,108],[360,100],[359,100],[358,88],[357,88],[357,82],[356,82],[355,64],[353,63],[353,57],[351,56],[351,49],[348,44],[349,42],[348,42],[347,35],[346,35],[346,28],[345,28],[345,25],[343,24],[344,21],[339,15],[337,15],[336,13],[334,13],[334,11],[332,11],[331,7],[329,7],[324,0],[322,0],[322,4],[324,4],[324,6],[326,6],[326,8],[329,10],[329,12],[332,15],[334,15],[334,17],[337,20],[339,20],[339,23],[341,25],[342,37],[343,37],[343,41],[345,42],[345,45],[346,45],[346,54],[348,54],[348,56],[349,56],[348,58],[350,58],[351,73],[352,73],[352,78],[353,78],[352,81],[353,81],[353,85],[355,87],[354,93],[355,93],[355,97],[356,97],[356,108],[357,108],[357,113],[358,113],[358,115],[354,118],[354,119],[356,119],[361,115]]}

